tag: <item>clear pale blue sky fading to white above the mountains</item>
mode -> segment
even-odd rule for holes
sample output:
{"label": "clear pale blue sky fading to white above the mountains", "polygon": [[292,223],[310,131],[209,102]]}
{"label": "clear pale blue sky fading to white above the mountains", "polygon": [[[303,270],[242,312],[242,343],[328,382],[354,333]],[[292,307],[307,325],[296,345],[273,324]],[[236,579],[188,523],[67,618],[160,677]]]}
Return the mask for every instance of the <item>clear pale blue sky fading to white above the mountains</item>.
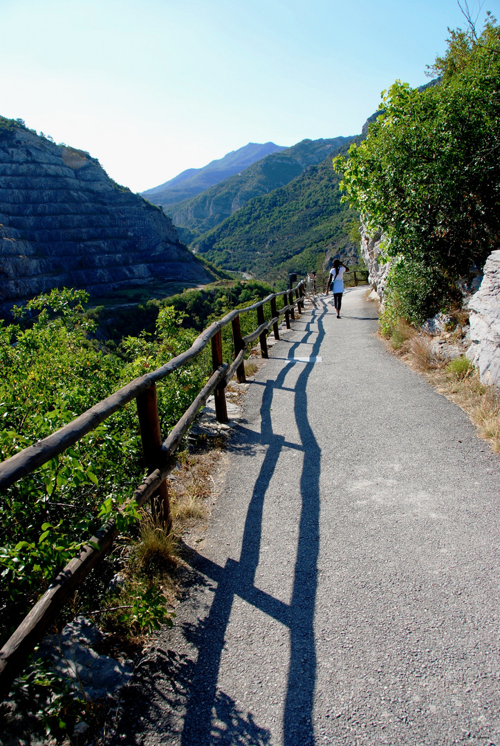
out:
{"label": "clear pale blue sky fading to white above the mountains", "polygon": [[0,0],[0,25],[0,115],[139,192],[247,142],[358,134],[465,21],[456,0]]}

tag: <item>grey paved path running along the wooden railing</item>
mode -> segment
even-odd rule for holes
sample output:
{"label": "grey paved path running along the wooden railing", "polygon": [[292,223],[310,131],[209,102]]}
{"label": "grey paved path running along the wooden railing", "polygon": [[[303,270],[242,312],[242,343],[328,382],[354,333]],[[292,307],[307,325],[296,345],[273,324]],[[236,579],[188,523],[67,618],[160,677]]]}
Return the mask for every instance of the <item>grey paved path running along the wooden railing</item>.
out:
{"label": "grey paved path running along the wooden railing", "polygon": [[357,289],[273,348],[122,742],[500,744],[500,457],[375,330]]}

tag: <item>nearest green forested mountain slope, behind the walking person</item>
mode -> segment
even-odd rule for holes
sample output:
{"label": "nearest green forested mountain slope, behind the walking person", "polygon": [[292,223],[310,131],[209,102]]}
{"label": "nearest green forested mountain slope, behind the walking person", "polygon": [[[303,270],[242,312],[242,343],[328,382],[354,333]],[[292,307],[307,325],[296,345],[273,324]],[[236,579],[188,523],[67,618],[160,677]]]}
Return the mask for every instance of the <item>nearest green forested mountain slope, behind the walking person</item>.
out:
{"label": "nearest green forested mountain slope, behind the walking person", "polygon": [[[359,137],[339,139],[346,142],[335,154],[345,153],[349,142],[359,141]],[[248,201],[201,236],[198,251],[225,269],[268,280],[316,269],[325,251],[356,257],[357,244],[349,230],[358,216],[341,204],[339,181],[330,153],[286,186]]]}

